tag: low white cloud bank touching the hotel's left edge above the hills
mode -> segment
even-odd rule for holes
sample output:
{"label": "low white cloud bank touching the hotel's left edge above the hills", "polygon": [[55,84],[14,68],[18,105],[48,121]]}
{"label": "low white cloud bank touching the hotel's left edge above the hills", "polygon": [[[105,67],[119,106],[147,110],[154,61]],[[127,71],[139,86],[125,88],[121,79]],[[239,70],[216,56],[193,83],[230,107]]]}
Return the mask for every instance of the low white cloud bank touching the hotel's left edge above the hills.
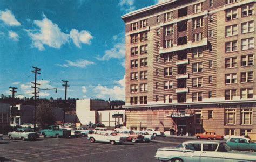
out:
{"label": "low white cloud bank touching the hotel's left edge above the hills", "polygon": [[98,86],[93,89],[93,93],[95,93],[97,98],[104,100],[107,100],[108,98],[111,100],[125,100],[125,77],[116,82],[118,82],[121,86],[107,88],[106,86],[98,84]]}

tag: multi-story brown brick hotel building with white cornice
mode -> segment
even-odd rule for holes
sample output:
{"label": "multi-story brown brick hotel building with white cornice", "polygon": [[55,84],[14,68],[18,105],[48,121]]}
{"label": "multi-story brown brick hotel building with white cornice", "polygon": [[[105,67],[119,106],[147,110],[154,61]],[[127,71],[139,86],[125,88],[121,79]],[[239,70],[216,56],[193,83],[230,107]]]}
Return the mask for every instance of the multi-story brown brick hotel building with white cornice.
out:
{"label": "multi-story brown brick hotel building with white cornice", "polygon": [[256,132],[255,3],[173,0],[122,16],[126,126]]}

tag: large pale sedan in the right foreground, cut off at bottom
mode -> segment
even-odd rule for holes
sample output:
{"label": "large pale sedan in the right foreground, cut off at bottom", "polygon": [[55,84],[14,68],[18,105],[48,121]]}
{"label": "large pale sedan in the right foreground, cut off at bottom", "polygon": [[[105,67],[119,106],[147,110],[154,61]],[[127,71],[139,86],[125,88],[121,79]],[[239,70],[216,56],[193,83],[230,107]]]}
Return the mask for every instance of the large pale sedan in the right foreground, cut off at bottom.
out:
{"label": "large pale sedan in the right foreground, cut off at bottom", "polygon": [[161,161],[254,161],[255,152],[234,151],[224,141],[188,140],[177,147],[157,149],[156,159]]}

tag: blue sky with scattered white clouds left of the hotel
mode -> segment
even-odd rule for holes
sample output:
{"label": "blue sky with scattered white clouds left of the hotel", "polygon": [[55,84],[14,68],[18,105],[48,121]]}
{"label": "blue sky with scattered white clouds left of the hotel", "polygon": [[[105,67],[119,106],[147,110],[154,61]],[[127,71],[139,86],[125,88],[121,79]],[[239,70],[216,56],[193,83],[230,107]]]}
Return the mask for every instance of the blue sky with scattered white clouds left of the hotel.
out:
{"label": "blue sky with scattered white clouds left of the hotel", "polygon": [[125,13],[157,0],[0,1],[0,93],[29,97],[41,68],[40,98],[125,98]]}

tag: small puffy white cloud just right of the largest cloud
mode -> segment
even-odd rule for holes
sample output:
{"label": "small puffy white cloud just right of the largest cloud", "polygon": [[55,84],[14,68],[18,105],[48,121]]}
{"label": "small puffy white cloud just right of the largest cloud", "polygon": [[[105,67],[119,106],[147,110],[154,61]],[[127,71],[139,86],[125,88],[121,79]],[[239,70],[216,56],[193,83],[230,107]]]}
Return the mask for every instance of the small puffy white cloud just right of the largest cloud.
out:
{"label": "small puffy white cloud just right of the largest cloud", "polygon": [[91,39],[93,38],[91,33],[86,31],[86,30],[82,30],[82,31],[78,31],[76,29],[72,29],[70,31],[70,38],[73,40],[73,43],[78,47],[81,48],[81,44],[91,44]]}

